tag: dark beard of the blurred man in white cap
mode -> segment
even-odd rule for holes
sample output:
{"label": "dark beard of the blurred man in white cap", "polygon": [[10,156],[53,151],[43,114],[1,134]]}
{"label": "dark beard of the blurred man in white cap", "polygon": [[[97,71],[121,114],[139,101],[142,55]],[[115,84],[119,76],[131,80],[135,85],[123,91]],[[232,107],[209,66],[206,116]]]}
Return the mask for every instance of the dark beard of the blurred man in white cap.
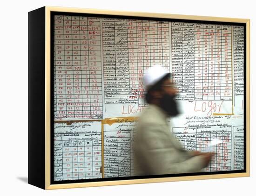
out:
{"label": "dark beard of the blurred man in white cap", "polygon": [[169,115],[176,116],[179,114],[175,96],[164,94],[161,99],[161,108]]}

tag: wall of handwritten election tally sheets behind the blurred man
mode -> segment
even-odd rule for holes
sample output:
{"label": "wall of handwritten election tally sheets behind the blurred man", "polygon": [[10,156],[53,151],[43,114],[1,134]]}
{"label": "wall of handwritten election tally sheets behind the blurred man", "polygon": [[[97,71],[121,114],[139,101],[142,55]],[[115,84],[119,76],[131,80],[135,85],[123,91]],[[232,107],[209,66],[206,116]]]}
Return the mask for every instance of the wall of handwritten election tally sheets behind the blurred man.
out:
{"label": "wall of handwritten election tally sheets behind the blurred man", "polygon": [[244,26],[54,15],[54,181],[134,175],[143,75],[172,73],[184,149],[216,156],[203,172],[244,168]]}

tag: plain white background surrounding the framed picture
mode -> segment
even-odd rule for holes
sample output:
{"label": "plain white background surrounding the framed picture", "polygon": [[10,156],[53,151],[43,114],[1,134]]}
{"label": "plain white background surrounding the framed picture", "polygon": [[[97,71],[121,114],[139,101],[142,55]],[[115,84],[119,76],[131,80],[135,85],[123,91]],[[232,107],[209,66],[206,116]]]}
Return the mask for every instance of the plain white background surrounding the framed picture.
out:
{"label": "plain white background surrounding the framed picture", "polygon": [[[172,13],[251,20],[251,177],[66,190],[27,184],[27,12],[42,6]],[[0,195],[249,196],[255,194],[255,20],[252,0],[5,0],[0,9]],[[254,183],[253,183],[254,182]]]}

